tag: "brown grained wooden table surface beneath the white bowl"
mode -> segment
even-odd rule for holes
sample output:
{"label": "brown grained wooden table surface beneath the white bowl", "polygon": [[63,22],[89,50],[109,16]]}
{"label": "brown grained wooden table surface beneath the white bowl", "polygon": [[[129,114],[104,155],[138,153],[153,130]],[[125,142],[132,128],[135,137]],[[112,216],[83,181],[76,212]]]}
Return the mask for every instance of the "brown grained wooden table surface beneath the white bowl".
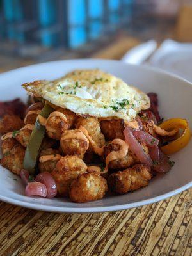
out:
{"label": "brown grained wooden table surface beneath the white bowl", "polygon": [[[120,38],[93,57],[118,59],[136,44],[134,38]],[[10,68],[12,63],[0,69]],[[189,189],[156,204],[94,214],[56,214],[0,202],[0,255],[189,256],[191,199]]]}

